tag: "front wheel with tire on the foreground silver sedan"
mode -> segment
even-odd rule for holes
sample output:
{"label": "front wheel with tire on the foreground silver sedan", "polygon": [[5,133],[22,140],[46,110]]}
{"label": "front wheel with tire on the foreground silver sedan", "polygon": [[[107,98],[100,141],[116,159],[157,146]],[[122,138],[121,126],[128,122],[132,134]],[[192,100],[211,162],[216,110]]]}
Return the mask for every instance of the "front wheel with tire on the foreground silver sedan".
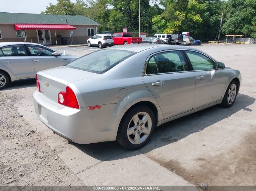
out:
{"label": "front wheel with tire on the foreground silver sedan", "polygon": [[222,107],[231,107],[236,99],[238,92],[238,84],[236,81],[231,81],[231,83],[228,85],[228,88],[225,92],[225,95],[223,97],[223,100],[221,102]]}

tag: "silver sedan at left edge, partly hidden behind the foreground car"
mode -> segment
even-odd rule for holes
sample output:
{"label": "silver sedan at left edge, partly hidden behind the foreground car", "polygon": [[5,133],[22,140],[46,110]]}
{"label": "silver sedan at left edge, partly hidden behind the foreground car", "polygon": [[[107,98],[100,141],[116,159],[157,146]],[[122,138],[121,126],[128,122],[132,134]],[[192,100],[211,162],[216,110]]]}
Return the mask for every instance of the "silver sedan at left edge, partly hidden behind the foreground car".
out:
{"label": "silver sedan at left edge, partly hidden behind the foreground car", "polygon": [[62,66],[77,58],[36,43],[0,43],[0,89],[11,81],[35,78],[40,70]]}

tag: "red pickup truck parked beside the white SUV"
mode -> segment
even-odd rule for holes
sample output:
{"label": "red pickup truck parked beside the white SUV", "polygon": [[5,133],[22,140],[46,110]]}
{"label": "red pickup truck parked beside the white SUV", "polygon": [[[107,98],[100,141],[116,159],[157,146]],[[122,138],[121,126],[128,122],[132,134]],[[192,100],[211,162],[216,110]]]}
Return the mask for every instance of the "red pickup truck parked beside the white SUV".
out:
{"label": "red pickup truck parked beside the white SUV", "polygon": [[130,44],[130,43],[142,43],[141,37],[131,37],[131,33],[115,33],[113,34],[114,44]]}

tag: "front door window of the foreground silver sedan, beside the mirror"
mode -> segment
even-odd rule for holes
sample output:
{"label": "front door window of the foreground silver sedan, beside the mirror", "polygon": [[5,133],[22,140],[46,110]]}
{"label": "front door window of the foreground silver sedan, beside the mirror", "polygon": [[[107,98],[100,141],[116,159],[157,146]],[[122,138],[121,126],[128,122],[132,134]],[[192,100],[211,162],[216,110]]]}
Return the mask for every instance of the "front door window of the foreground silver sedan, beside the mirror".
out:
{"label": "front door window of the foreground silver sedan, beside the mirror", "polygon": [[188,55],[188,58],[191,62],[193,70],[212,70],[215,69],[214,62],[209,59],[207,56],[202,55],[201,53],[193,51],[185,51]]}

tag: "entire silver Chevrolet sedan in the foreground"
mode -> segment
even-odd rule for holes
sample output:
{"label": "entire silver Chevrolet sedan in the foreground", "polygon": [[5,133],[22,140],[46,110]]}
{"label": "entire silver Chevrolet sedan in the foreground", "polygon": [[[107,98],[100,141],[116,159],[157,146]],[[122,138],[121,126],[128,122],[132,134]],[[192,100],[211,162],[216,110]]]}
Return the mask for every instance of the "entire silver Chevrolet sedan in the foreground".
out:
{"label": "entire silver Chevrolet sedan in the foreground", "polygon": [[201,50],[165,45],[114,46],[38,72],[38,118],[80,144],[146,144],[156,126],[216,104],[231,107],[238,70]]}

